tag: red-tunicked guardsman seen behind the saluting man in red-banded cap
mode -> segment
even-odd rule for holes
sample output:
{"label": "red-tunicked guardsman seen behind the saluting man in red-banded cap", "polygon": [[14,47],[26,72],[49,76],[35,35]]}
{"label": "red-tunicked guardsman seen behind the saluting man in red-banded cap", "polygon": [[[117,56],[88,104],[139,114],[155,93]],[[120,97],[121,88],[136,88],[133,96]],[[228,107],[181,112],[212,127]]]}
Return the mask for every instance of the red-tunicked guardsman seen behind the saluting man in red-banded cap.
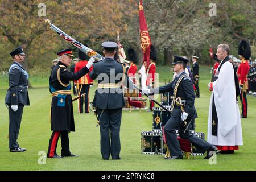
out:
{"label": "red-tunicked guardsman seen behind the saluting man in red-banded cap", "polygon": [[[79,59],[80,61],[75,66],[75,73],[80,71],[88,63],[88,56],[80,50],[79,50]],[[92,69],[93,67],[90,67],[90,72],[92,71]],[[86,73],[86,75],[82,76],[79,80],[75,81],[77,96],[80,96],[81,94],[85,93],[85,96],[77,100],[79,103],[78,113],[83,113],[83,112],[90,113],[89,112],[89,90],[90,90],[90,85],[93,84],[93,80],[90,78],[89,73]],[[84,105],[85,105],[85,109],[83,108]]]}

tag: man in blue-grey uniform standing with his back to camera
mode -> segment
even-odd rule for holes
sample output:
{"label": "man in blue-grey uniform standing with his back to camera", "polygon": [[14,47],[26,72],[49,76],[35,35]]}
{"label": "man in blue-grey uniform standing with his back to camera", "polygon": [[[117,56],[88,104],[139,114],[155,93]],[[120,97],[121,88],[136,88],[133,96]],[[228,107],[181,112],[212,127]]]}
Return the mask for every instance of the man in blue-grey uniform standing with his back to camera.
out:
{"label": "man in blue-grey uniform standing with his back to camera", "polygon": [[[122,159],[120,157],[120,125],[122,118],[122,107],[125,100],[121,84],[133,89],[133,82],[125,74],[125,67],[122,63],[114,60],[117,43],[104,42],[105,59],[97,61],[93,65],[90,77],[98,80],[98,88],[93,99],[93,106],[97,108],[100,120],[101,155],[102,159]],[[129,86],[128,86],[129,82]]]}

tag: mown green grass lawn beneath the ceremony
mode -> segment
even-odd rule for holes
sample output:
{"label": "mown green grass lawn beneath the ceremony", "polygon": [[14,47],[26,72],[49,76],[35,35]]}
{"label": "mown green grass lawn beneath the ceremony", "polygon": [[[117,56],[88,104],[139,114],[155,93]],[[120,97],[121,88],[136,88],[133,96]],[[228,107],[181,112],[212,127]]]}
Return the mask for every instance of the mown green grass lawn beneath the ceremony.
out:
{"label": "mown green grass lawn beneath the ceremony", "polygon": [[[207,135],[210,92],[209,67],[200,67],[200,94],[196,99],[199,118],[196,131]],[[159,81],[170,79],[170,68],[159,68]],[[48,77],[48,76],[47,76]],[[255,170],[256,151],[256,97],[247,96],[249,102],[248,118],[242,119],[243,146],[233,155],[217,155],[217,164],[210,165],[204,156],[190,160],[164,160],[162,155],[141,154],[141,131],[152,128],[152,113],[124,110],[121,123],[122,160],[102,160],[100,153],[100,131],[96,128],[93,114],[77,114],[77,102],[73,103],[76,132],[70,133],[70,148],[78,158],[46,159],[46,165],[38,164],[38,152],[48,149],[51,137],[49,106],[51,95],[48,91],[48,78],[31,78],[33,89],[29,89],[30,106],[24,107],[20,127],[19,144],[26,147],[22,153],[11,153],[6,138],[9,128],[9,115],[4,105],[7,81],[1,77],[0,83],[0,170]],[[90,89],[89,98],[93,99],[96,86]],[[158,98],[159,100],[159,98]],[[57,153],[60,154],[60,140]]]}

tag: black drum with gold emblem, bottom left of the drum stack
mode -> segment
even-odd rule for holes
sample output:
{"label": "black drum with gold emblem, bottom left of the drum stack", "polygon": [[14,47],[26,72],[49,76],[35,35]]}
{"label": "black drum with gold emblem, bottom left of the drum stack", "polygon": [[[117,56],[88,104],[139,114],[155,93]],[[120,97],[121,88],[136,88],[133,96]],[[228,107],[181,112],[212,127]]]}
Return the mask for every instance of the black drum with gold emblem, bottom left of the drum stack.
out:
{"label": "black drum with gold emblem, bottom left of the drum stack", "polygon": [[142,154],[159,154],[160,133],[154,131],[141,132],[141,153]]}

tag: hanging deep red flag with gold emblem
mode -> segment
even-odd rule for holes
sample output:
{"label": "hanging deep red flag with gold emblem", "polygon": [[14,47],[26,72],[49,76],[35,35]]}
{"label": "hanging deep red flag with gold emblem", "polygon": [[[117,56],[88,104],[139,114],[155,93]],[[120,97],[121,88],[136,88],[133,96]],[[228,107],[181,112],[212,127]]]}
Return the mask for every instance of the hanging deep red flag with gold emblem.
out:
{"label": "hanging deep red flag with gold emblem", "polygon": [[143,61],[147,61],[147,65],[149,65],[151,41],[150,35],[147,31],[147,22],[144,15],[142,0],[139,1],[139,28],[141,37],[141,49],[143,52]]}

